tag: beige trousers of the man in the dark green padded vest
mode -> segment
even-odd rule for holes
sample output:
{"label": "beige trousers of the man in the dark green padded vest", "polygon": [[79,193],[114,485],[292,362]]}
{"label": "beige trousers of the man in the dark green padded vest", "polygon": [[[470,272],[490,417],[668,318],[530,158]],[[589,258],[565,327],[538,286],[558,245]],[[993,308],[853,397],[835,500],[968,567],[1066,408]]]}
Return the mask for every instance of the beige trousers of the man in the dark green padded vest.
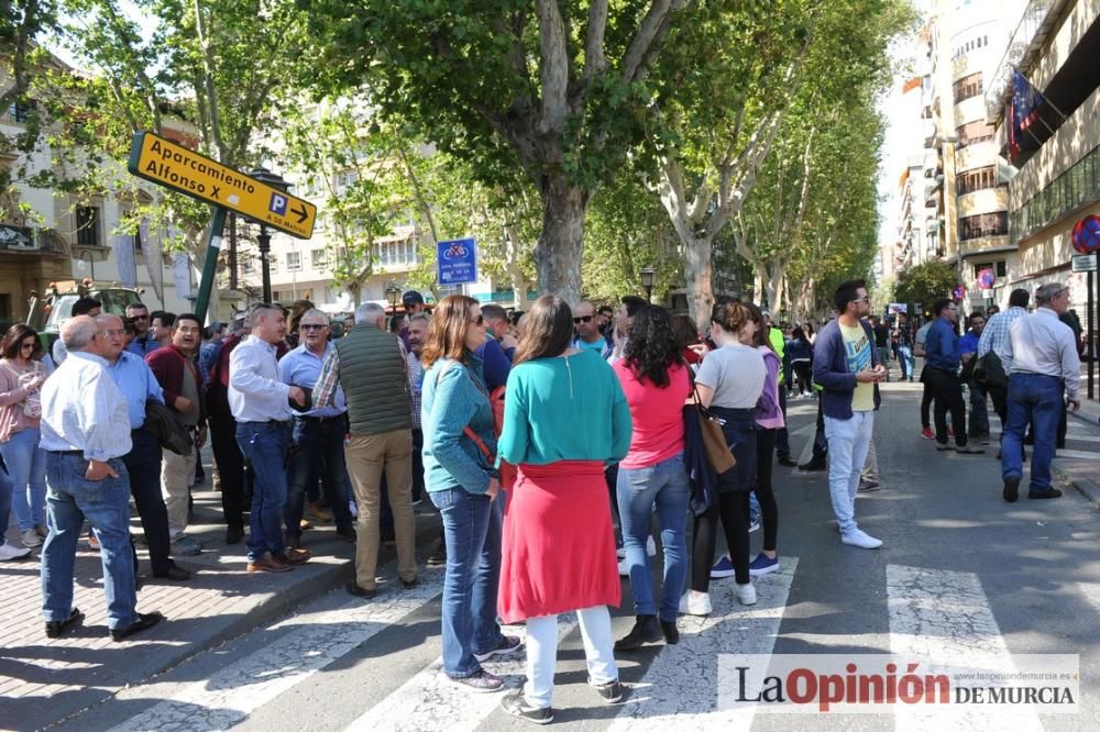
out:
{"label": "beige trousers of the man in the dark green padded vest", "polygon": [[386,473],[389,506],[397,540],[397,574],[416,579],[416,520],[413,517],[413,431],[392,430],[355,434],[344,447],[348,475],[359,507],[355,540],[355,581],[375,588],[378,564],[378,518],[382,513],[382,472]]}

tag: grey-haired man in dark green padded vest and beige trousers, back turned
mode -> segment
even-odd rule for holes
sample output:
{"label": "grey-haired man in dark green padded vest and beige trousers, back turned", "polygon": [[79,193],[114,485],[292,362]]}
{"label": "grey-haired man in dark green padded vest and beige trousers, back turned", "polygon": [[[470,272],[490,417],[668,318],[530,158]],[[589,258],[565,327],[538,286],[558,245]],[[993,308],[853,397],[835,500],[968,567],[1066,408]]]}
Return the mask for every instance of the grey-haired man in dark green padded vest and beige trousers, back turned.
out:
{"label": "grey-haired man in dark green padded vest and beige trousers, back turned", "polygon": [[350,436],[344,455],[359,507],[355,579],[348,591],[362,598],[376,595],[383,473],[394,511],[397,573],[406,589],[417,584],[411,387],[405,344],[385,325],[381,306],[365,302],[356,308],[355,328],[334,342],[314,389],[320,408],[334,403],[338,387],[348,400]]}

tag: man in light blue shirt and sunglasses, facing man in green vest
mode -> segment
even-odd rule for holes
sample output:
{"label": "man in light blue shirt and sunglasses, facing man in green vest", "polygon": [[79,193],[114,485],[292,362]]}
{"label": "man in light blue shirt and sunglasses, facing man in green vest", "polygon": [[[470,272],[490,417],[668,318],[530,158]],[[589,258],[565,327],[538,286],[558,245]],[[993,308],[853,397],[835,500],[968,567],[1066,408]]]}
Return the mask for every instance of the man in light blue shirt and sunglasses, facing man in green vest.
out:
{"label": "man in light blue shirt and sunglasses, facing man in green vest", "polygon": [[[284,384],[301,387],[308,392],[317,385],[324,356],[333,347],[329,343],[329,317],[316,309],[302,313],[298,322],[298,344],[297,348],[279,359],[279,378]],[[309,407],[309,403],[306,406]],[[309,486],[317,485],[318,477],[324,481],[324,495],[329,498],[337,522],[337,536],[355,541],[348,508],[350,479],[343,453],[343,440],[348,433],[346,413],[348,404],[340,387],[337,387],[332,406],[294,410],[292,434],[298,451],[287,468],[283,514],[287,546],[302,547],[301,513],[306,491]]]}

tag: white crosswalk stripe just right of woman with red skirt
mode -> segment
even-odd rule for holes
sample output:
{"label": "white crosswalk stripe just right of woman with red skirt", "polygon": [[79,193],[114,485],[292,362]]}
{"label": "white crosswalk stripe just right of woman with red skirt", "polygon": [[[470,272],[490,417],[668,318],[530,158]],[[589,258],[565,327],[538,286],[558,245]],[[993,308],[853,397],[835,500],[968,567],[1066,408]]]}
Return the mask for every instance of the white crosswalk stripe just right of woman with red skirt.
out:
{"label": "white crosswalk stripe just right of woman with red skirt", "polygon": [[717,657],[771,655],[798,565],[798,557],[782,557],[779,573],[758,578],[750,607],[737,602],[733,579],[712,581],[715,614],[680,615],[680,643],[664,646],[634,685],[610,732],[749,729],[754,708],[717,709]]}

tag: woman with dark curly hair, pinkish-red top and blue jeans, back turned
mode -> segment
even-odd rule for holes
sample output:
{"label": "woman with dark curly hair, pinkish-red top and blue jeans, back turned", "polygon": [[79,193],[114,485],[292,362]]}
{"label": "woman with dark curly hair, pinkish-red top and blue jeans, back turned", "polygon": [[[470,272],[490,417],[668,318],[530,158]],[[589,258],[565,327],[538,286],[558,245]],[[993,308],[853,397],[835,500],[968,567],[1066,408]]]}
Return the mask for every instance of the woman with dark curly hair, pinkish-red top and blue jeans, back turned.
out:
{"label": "woman with dark curly hair, pinkish-red top and blue jeans, back turned", "polygon": [[[635,313],[626,351],[614,369],[634,420],[630,450],[619,463],[616,486],[637,621],[615,650],[629,651],[662,637],[670,644],[680,640],[676,613],[688,574],[691,488],[683,456],[683,406],[691,382],[664,308],[647,306]],[[646,552],[654,503],[664,547],[659,618]]]}

